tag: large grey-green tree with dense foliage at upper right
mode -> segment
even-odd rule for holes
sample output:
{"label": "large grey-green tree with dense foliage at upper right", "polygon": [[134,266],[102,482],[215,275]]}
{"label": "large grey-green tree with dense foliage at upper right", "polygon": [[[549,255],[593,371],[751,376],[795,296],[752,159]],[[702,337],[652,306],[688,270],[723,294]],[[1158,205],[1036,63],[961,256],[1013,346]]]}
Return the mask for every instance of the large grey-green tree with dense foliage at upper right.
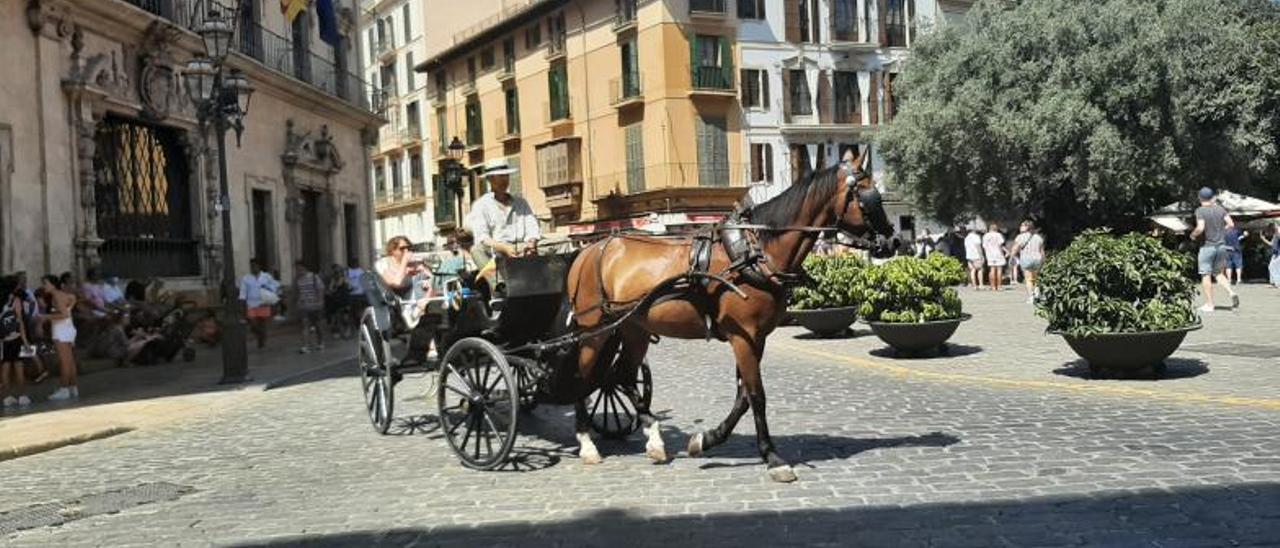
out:
{"label": "large grey-green tree with dense foliage at upper right", "polygon": [[879,137],[943,222],[1135,227],[1194,188],[1274,196],[1280,8],[1270,0],[979,0],[913,49]]}

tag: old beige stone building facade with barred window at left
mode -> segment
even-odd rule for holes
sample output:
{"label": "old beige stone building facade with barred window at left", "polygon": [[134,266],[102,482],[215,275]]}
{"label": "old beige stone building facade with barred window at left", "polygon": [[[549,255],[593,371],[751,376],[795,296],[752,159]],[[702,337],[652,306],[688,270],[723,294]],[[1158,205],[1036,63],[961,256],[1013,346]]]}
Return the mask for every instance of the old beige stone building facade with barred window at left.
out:
{"label": "old beige stone building facade with barred window at left", "polygon": [[[252,256],[285,279],[294,259],[367,264],[366,143],[383,120],[355,69],[355,1],[334,4],[338,46],[315,14],[288,24],[274,0],[0,4],[0,270],[101,266],[209,296],[223,206],[239,273]],[[229,64],[256,88],[228,137],[227,200],[182,83],[211,8],[236,14]]]}

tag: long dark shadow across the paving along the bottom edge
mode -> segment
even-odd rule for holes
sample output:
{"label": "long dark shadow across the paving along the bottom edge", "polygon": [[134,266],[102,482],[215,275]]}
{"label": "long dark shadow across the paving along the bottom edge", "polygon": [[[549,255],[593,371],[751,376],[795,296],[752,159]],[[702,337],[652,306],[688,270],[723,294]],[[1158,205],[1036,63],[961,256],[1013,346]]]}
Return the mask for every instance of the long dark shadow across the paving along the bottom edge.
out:
{"label": "long dark shadow across the paving along the bottom edge", "polygon": [[[794,487],[778,487],[782,493],[788,489]],[[746,502],[748,508],[751,504]],[[483,511],[477,512],[477,519],[484,519]],[[238,545],[1275,545],[1277,512],[1280,484],[1238,484],[1108,496],[682,516],[602,510],[563,521],[364,530]]]}

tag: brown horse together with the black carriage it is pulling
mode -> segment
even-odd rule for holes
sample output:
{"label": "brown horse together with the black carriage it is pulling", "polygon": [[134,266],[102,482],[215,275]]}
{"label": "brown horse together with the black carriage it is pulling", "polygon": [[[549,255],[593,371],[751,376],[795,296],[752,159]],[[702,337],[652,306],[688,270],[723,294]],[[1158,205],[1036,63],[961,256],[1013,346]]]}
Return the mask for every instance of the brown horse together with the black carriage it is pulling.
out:
{"label": "brown horse together with the black carriage it is pulling", "polygon": [[[690,438],[689,455],[724,443],[750,410],[769,478],[794,481],[769,435],[760,359],[788,286],[803,279],[801,264],[822,233],[840,230],[879,250],[892,234],[867,160],[846,152],[840,165],[691,237],[609,236],[576,254],[499,261],[502,300],[462,287],[433,300],[428,316],[442,321],[440,359],[424,369],[439,371],[438,420],[449,446],[466,466],[498,467],[511,453],[522,407],[573,403],[584,463],[600,462],[591,430],[626,435],[640,425],[649,458],[666,461],[660,425],[649,412],[649,344],[657,337],[716,338],[732,348],[737,396],[719,425]],[[371,306],[360,326],[360,370],[369,416],[385,433],[396,380],[408,370],[390,342],[407,325],[393,314],[403,303],[398,296],[376,277],[366,287]]]}

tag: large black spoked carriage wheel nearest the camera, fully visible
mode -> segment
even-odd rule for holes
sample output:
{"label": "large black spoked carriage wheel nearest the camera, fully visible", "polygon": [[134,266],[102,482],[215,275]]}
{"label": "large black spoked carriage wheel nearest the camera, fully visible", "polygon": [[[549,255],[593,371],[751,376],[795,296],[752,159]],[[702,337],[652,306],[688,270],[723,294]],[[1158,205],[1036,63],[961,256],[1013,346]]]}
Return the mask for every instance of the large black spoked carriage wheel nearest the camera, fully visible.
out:
{"label": "large black spoked carriage wheel nearest the camera, fully visible", "polygon": [[444,438],[463,466],[493,470],[507,461],[516,443],[520,380],[498,347],[476,337],[453,343],[435,396]]}

